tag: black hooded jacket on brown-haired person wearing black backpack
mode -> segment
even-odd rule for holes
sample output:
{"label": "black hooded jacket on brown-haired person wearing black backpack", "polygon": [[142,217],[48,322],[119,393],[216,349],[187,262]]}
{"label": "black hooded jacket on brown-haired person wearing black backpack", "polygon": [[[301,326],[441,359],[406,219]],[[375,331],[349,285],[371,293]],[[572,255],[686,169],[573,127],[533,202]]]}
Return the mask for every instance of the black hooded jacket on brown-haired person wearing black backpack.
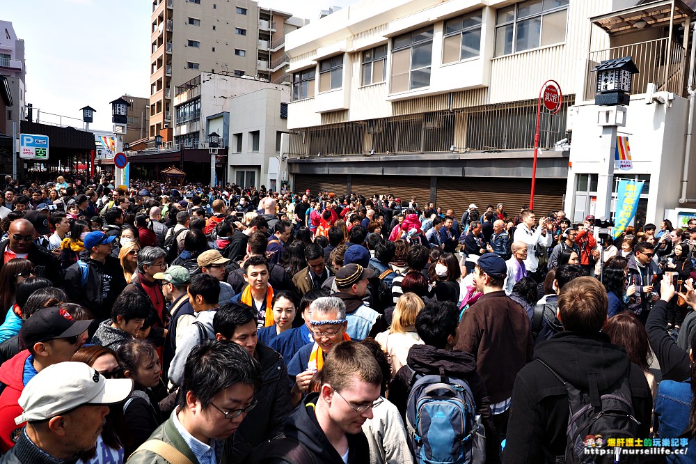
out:
{"label": "black hooded jacket on brown-haired person wearing black backpack", "polygon": [[[599,393],[611,392],[628,376],[638,436],[650,431],[652,394],[640,367],[631,364],[623,348],[612,345],[606,334],[555,334],[535,350],[561,378],[580,391],[589,389],[587,373],[596,373]],[[519,372],[512,394],[507,425],[505,463],[553,463],[565,453],[568,395],[564,385],[546,366],[532,361]]]}

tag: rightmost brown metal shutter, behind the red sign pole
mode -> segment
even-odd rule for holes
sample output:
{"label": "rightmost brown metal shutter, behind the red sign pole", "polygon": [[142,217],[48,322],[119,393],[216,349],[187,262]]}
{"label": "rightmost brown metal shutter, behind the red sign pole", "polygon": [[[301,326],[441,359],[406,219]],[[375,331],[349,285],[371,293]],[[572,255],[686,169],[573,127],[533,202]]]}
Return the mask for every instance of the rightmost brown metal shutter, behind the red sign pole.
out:
{"label": "rightmost brown metal shutter, behind the red sign pole", "polygon": [[[479,212],[493,204],[505,205],[508,217],[514,218],[523,205],[529,204],[531,180],[528,178],[451,178],[437,180],[436,206],[443,210],[454,208],[455,218],[461,217],[470,203],[475,203]],[[534,209],[537,217],[563,208],[565,179],[538,179],[535,186]]]}

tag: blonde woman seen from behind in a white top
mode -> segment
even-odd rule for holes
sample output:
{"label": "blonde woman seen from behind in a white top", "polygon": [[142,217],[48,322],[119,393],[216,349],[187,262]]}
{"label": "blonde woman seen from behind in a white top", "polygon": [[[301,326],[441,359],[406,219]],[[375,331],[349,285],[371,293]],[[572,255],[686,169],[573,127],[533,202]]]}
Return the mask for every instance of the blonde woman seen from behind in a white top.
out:
{"label": "blonde woman seen from behind in a white top", "polygon": [[411,346],[423,343],[416,332],[416,316],[423,308],[425,303],[416,293],[404,293],[396,302],[389,330],[375,337],[384,353],[391,358],[392,377],[406,365]]}

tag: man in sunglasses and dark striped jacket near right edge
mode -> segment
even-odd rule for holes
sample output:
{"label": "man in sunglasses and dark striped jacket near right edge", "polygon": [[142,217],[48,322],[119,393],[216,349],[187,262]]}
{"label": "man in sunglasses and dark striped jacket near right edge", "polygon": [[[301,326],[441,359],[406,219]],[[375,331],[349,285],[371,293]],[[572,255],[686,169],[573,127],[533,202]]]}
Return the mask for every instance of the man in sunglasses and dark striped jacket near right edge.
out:
{"label": "man in sunglasses and dark striped jacket near right edge", "polygon": [[660,299],[654,288],[659,268],[653,261],[655,249],[651,243],[638,242],[633,252],[628,258],[628,285],[635,285],[635,298],[628,303],[628,309],[645,323],[650,303]]}

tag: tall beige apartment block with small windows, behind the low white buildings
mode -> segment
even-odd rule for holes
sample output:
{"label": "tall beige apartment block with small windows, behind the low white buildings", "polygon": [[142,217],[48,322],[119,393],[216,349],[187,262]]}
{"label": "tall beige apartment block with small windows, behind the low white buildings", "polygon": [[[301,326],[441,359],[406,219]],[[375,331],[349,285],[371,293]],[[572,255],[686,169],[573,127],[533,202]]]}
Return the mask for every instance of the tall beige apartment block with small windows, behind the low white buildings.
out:
{"label": "tall beige apartment block with small windows, behind the low white buildings", "polygon": [[252,0],[154,0],[150,127],[173,126],[173,91],[201,72],[288,82],[285,35],[306,21]]}

